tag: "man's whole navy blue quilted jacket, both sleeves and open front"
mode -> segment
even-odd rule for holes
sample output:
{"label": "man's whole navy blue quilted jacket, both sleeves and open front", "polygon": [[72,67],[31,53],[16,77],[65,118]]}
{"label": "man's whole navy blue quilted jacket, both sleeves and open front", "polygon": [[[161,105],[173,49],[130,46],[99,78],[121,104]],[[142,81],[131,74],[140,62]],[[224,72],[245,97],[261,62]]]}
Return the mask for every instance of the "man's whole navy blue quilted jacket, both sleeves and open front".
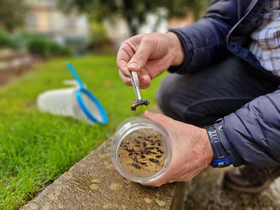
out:
{"label": "man's whole navy blue quilted jacket, both sleeves and open front", "polygon": [[[248,35],[267,0],[214,0],[204,16],[192,25],[170,29],[187,52],[181,68],[170,72],[199,71],[235,54],[267,76],[258,60],[246,48]],[[279,78],[269,75],[270,78]],[[280,82],[279,82],[280,85]],[[222,126],[222,130],[218,127]],[[268,167],[280,164],[280,86],[260,96],[214,124],[233,166]]]}

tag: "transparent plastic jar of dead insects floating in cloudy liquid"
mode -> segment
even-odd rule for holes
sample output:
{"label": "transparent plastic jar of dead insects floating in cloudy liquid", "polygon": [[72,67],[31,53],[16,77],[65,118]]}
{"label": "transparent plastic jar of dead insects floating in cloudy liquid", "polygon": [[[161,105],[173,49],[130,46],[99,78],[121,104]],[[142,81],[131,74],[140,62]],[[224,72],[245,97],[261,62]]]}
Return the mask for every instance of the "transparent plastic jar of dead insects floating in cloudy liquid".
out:
{"label": "transparent plastic jar of dead insects floating in cloudy liquid", "polygon": [[139,183],[153,182],[164,175],[170,165],[171,139],[160,124],[131,117],[116,129],[111,157],[125,178]]}

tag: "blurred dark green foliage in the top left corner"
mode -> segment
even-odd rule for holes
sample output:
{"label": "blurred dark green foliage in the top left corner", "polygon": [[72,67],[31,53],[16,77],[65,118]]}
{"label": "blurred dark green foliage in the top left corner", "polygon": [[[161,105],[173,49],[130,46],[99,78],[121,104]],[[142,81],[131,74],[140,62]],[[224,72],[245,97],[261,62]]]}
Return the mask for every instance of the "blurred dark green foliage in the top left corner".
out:
{"label": "blurred dark green foliage in the top left corner", "polygon": [[23,26],[27,12],[24,0],[0,0],[0,25],[8,31]]}

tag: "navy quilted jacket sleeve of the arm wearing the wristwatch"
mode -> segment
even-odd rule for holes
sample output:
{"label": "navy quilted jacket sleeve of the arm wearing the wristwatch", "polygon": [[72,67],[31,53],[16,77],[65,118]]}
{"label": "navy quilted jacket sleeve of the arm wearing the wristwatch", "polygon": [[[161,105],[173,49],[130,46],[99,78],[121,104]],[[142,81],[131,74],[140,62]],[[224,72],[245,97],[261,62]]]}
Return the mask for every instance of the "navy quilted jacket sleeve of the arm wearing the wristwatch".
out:
{"label": "navy quilted jacket sleeve of the arm wearing the wristwatch", "polygon": [[224,117],[214,127],[233,166],[262,168],[280,164],[280,86]]}

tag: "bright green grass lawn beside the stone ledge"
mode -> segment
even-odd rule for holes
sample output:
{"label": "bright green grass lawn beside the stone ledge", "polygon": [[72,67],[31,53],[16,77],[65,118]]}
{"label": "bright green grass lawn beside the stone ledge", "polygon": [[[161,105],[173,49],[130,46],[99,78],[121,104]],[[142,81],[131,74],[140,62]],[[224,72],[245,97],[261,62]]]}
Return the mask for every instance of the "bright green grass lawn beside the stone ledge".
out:
{"label": "bright green grass lawn beside the stone ledge", "polygon": [[[40,113],[37,96],[63,88],[72,79],[65,63],[70,61],[83,82],[100,100],[110,122],[90,126],[71,117]],[[155,105],[154,94],[161,77],[141,91]],[[37,64],[30,72],[0,88],[0,209],[17,209],[57,179],[77,161],[114,134],[120,122],[146,110],[130,110],[132,87],[118,75],[115,55],[58,58]],[[110,152],[110,151],[108,151]]]}

